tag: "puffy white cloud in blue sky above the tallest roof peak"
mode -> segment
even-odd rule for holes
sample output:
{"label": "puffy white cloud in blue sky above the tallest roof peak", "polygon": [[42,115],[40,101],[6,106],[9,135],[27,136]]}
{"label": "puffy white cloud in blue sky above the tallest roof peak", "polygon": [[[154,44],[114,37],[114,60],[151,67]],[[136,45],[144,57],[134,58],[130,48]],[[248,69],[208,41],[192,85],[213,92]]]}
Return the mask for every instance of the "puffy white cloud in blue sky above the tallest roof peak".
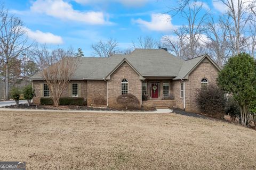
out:
{"label": "puffy white cloud in blue sky above the tallest roof peak", "polygon": [[142,19],[134,20],[135,23],[153,31],[171,31],[175,26],[171,23],[171,16],[168,14],[151,14],[151,21],[145,21]]}

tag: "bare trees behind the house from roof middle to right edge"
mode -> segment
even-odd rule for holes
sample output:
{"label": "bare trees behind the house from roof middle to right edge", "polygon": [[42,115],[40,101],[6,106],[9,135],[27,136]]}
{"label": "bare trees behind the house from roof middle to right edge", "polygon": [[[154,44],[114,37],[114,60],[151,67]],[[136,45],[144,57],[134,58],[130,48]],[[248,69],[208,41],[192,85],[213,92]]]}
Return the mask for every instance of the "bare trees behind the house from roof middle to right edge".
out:
{"label": "bare trees behind the house from roof middle to right edge", "polygon": [[113,39],[92,45],[93,55],[109,57],[129,54],[134,48],[167,48],[175,56],[188,60],[205,53],[222,68],[231,56],[245,52],[256,57],[256,2],[221,0],[225,12],[216,15],[204,3],[181,0],[169,13],[181,16],[183,25],[175,27],[160,40],[139,37],[130,48],[118,50]]}

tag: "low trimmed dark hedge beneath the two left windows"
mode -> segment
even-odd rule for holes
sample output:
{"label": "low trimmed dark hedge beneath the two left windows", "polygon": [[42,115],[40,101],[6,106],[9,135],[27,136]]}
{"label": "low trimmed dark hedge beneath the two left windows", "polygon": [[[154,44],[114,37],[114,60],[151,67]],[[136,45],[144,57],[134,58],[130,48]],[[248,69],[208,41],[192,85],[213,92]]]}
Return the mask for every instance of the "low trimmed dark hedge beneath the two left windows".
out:
{"label": "low trimmed dark hedge beneath the two left windows", "polygon": [[[42,97],[40,99],[41,105],[53,105],[53,100],[50,97]],[[61,97],[60,105],[84,105],[83,97]]]}

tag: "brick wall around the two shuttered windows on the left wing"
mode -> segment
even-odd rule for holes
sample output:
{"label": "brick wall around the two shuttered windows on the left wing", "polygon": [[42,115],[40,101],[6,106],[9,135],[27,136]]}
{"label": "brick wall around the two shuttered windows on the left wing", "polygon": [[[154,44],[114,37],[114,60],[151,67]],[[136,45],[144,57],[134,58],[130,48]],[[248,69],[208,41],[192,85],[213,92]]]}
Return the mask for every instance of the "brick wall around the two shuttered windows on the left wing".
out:
{"label": "brick wall around the two shuttered windows on the left wing", "polygon": [[[33,98],[33,103],[36,105],[40,104],[40,98],[41,96],[41,84],[43,84],[44,81],[42,80],[33,80],[33,88],[35,89],[35,97]],[[78,83],[81,84],[81,97],[84,97],[86,100],[87,98],[87,81],[85,80],[72,80],[70,83]],[[68,87],[63,91],[63,94],[61,97],[71,97],[69,94]]]}

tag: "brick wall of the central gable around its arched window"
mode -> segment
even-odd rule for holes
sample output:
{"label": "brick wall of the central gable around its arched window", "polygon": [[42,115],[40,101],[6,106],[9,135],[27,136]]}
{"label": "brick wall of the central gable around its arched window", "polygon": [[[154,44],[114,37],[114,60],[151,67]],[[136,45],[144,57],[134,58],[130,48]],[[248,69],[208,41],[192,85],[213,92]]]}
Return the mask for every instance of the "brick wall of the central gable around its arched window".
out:
{"label": "brick wall of the central gable around its arched window", "polygon": [[139,75],[124,62],[108,80],[108,106],[119,107],[116,98],[121,95],[121,82],[123,79],[129,81],[129,93],[136,96],[141,105],[141,81]]}

